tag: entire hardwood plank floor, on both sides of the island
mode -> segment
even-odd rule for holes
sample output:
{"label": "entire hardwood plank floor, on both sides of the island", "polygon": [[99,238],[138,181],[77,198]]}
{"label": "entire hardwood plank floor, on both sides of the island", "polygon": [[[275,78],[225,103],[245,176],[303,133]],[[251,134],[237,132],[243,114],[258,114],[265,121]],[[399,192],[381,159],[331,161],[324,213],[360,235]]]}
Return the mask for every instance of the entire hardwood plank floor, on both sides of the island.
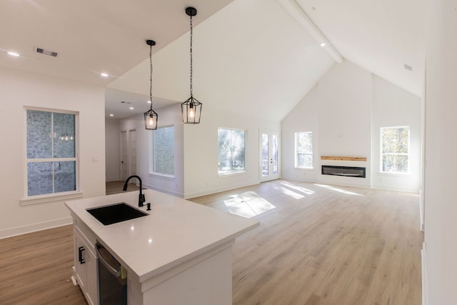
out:
{"label": "entire hardwood plank floor, on both sides of the island", "polygon": [[[261,221],[234,245],[233,304],[421,304],[416,194],[276,180],[191,201]],[[0,304],[86,304],[72,246],[71,226],[0,239]]]}

